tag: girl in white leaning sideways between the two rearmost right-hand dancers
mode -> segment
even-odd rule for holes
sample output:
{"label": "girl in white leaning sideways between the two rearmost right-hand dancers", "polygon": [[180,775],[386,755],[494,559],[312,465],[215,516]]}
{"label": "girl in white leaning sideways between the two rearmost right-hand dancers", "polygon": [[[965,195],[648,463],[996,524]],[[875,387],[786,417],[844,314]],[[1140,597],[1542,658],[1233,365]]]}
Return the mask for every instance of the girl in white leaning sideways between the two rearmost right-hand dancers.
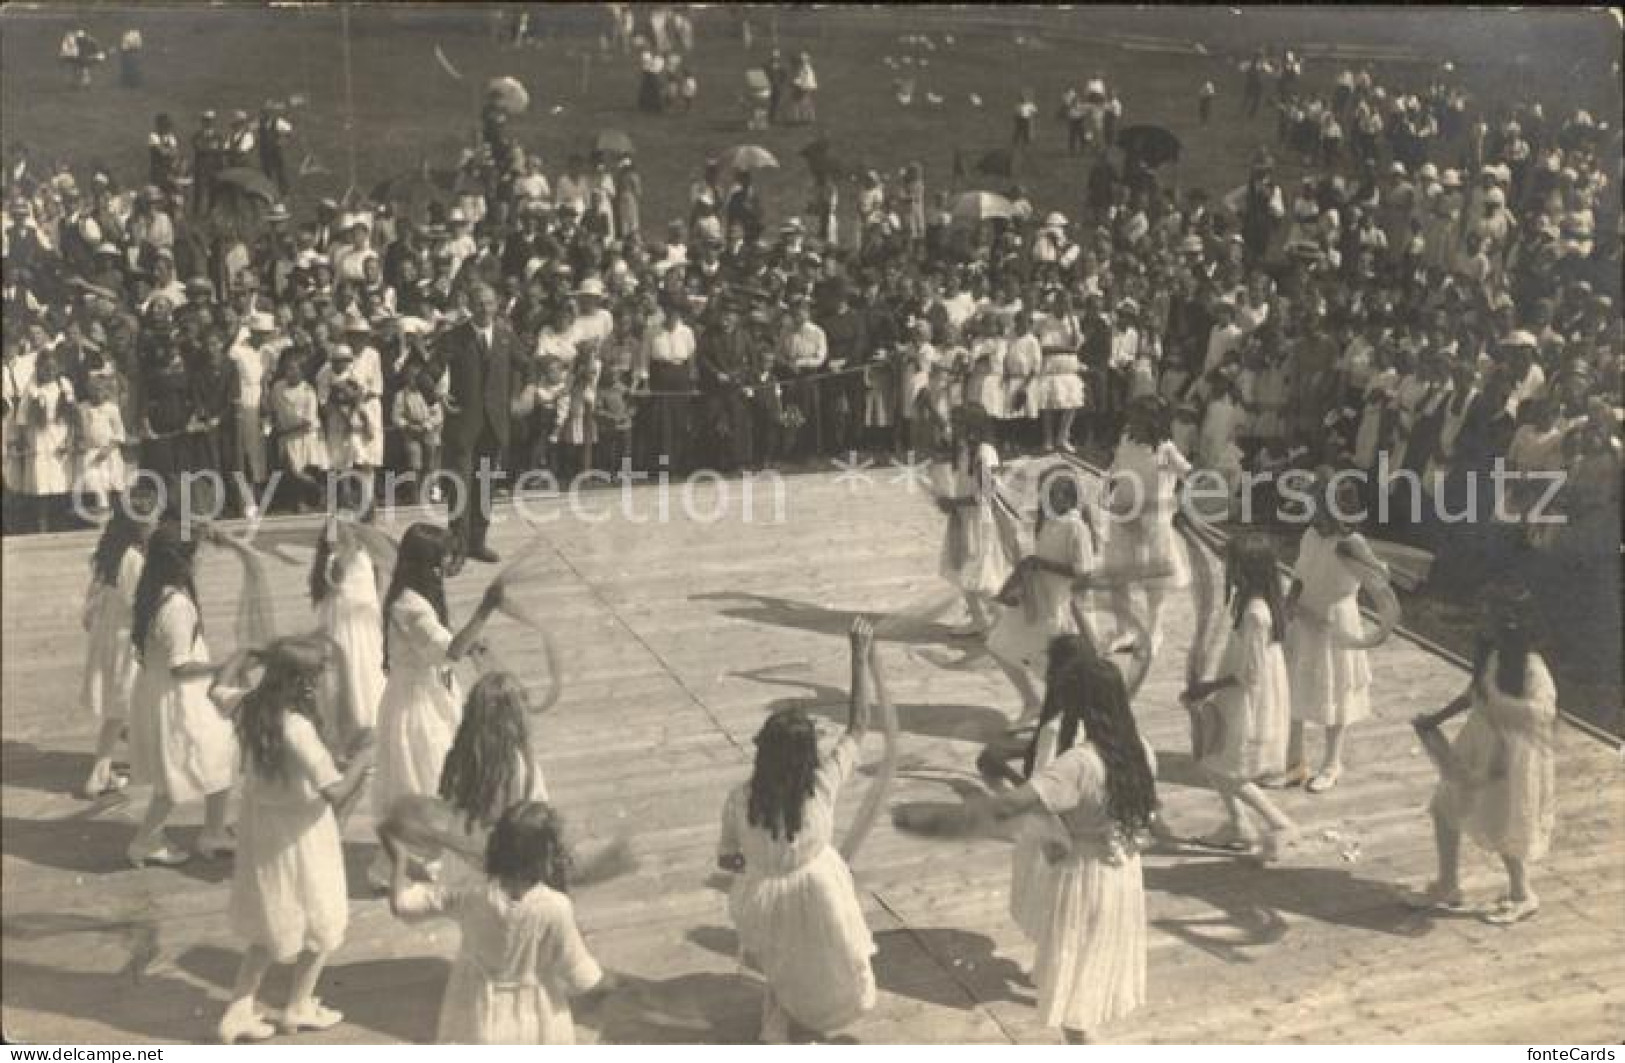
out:
{"label": "girl in white leaning sideways between the two rearmost right-hand dancers", "polygon": [[988,634],[988,653],[1022,697],[1019,723],[1043,704],[1037,679],[1048,673],[1050,640],[1082,631],[1072,587],[1094,567],[1095,532],[1079,509],[1076,473],[1050,470],[1038,481],[1034,553],[1016,564]]}

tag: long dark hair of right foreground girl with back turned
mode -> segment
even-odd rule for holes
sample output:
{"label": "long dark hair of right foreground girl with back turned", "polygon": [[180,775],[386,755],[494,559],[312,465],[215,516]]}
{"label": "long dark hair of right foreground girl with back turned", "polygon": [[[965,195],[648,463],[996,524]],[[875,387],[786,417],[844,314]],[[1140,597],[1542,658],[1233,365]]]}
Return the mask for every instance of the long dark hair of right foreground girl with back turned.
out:
{"label": "long dark hair of right foreground girl with back turned", "polygon": [[[1069,650],[1082,652],[1051,666],[1040,718],[1061,717],[1056,754],[1077,744],[1082,728],[1107,769],[1107,816],[1123,834],[1133,835],[1147,829],[1157,811],[1157,780],[1129,710],[1128,684],[1118,666],[1095,653],[1087,639]],[[1037,741],[1027,754],[1029,777],[1035,749]]]}

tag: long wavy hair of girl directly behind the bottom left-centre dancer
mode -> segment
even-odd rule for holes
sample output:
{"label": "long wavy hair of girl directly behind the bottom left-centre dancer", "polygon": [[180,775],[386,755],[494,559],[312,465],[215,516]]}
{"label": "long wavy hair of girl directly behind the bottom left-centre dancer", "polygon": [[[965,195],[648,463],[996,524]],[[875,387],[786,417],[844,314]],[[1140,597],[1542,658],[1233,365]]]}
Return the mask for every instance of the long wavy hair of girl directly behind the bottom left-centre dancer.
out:
{"label": "long wavy hair of girl directly behind the bottom left-centre dancer", "polygon": [[440,767],[440,800],[466,816],[468,829],[489,826],[531,792],[530,710],[525,688],[507,671],[474,683],[457,738]]}

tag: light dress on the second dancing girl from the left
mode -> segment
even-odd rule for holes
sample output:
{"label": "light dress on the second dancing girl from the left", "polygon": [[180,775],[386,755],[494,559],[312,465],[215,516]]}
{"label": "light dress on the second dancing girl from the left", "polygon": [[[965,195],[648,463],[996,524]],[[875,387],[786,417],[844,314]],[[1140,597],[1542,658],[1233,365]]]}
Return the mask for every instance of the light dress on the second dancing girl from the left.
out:
{"label": "light dress on the second dancing girl from the left", "polygon": [[210,679],[176,679],[180,665],[206,665],[198,611],[171,590],[158,606],[130,691],[130,780],[184,805],[231,788],[237,736],[208,697]]}

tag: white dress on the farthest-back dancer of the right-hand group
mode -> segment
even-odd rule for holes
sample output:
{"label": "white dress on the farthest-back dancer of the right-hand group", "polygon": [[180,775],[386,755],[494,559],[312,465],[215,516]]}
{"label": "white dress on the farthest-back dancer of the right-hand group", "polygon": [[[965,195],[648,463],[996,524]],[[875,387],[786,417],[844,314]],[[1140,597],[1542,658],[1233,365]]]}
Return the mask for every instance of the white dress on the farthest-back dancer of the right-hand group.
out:
{"label": "white dress on the farthest-back dancer of the right-hand group", "polygon": [[1105,558],[1108,567],[1162,566],[1173,569],[1159,580],[1142,580],[1144,588],[1178,590],[1191,582],[1185,551],[1173,533],[1178,514],[1178,483],[1191,471],[1180,449],[1162,442],[1155,449],[1124,439],[1112,460],[1112,520]]}

